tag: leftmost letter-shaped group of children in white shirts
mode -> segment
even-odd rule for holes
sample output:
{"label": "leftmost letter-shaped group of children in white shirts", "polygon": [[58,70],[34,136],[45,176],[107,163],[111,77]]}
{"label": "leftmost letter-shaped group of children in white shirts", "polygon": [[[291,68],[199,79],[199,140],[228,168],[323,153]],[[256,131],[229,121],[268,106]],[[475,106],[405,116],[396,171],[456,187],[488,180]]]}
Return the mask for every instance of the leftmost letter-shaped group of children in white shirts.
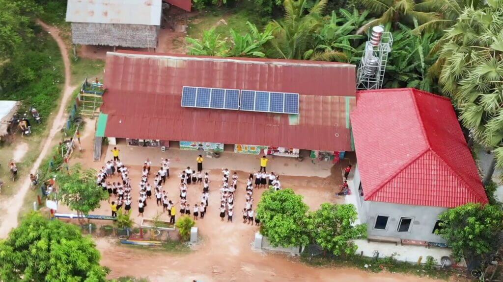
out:
{"label": "leftmost letter-shaped group of children in white shirts", "polygon": [[[115,176],[116,173],[120,175],[122,181],[111,181],[112,176]],[[113,160],[107,161],[99,171],[96,183],[103,191],[108,192],[109,203],[112,194],[115,196],[115,200],[110,204],[112,216],[117,216],[117,211],[122,209],[122,206],[124,206],[124,212],[129,213],[132,200],[129,170],[118,158],[114,157]]]}

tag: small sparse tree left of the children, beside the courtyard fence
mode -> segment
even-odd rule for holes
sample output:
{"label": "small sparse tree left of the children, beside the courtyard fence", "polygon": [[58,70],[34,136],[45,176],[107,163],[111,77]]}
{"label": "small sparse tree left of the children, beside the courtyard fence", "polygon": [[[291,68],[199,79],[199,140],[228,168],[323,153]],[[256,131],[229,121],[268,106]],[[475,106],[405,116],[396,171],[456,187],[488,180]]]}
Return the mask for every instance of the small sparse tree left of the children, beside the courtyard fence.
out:
{"label": "small sparse tree left of the children, beside the courtyard fence", "polygon": [[78,164],[68,173],[60,172],[56,184],[56,199],[80,214],[88,215],[100,207],[102,200],[108,199],[108,193],[96,185],[96,171],[82,170]]}

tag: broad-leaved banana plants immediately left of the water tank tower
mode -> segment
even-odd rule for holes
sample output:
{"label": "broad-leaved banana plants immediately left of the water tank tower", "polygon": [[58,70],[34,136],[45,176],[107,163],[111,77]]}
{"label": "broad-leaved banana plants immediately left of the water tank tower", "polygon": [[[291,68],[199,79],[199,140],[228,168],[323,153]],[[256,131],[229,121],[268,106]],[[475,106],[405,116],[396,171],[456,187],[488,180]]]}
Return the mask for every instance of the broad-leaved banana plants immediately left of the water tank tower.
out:
{"label": "broad-leaved banana plants immediately left of the water tank tower", "polygon": [[[353,13],[344,9],[339,11],[342,17],[332,11],[331,17],[325,21],[319,32],[313,35],[314,48],[304,54],[304,59],[348,63],[360,59],[357,54],[361,53],[356,46],[361,43],[358,39],[366,37],[355,32],[367,22],[368,12],[360,14],[356,9]],[[363,47],[359,49],[363,50]]]}

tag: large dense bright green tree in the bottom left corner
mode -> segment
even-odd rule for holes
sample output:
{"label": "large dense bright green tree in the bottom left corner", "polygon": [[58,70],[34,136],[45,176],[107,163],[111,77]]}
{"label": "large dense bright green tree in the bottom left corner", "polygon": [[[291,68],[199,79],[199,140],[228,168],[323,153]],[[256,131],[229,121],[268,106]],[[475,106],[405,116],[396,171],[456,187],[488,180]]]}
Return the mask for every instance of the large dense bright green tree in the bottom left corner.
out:
{"label": "large dense bright green tree in the bottom left corner", "polygon": [[100,252],[74,225],[38,213],[0,241],[0,280],[105,282]]}

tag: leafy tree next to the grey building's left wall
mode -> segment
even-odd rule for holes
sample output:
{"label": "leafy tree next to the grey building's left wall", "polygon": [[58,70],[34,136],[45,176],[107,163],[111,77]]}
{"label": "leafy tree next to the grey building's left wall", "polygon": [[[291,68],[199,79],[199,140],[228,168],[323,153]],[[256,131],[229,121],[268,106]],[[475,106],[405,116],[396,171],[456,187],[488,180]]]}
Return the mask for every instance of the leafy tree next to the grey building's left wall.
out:
{"label": "leafy tree next to the grey building's left wall", "polygon": [[324,203],[320,209],[310,212],[307,228],[312,240],[334,255],[354,254],[357,246],[354,239],[367,235],[365,224],[355,224],[358,218],[352,204],[335,205]]}

